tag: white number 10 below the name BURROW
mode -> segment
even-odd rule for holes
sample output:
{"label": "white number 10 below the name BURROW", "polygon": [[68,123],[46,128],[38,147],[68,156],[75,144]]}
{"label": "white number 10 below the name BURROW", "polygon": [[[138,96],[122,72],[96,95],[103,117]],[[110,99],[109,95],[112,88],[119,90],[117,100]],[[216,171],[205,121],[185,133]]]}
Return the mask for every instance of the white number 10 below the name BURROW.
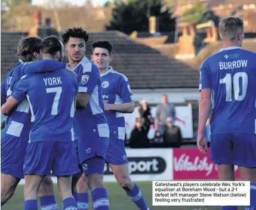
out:
{"label": "white number 10 below the name BURROW", "polygon": [[[240,84],[239,78],[242,79],[242,92],[240,92]],[[227,73],[227,75],[220,79],[220,84],[226,84],[226,101],[232,101],[232,75]],[[245,72],[235,73],[233,76],[233,89],[234,89],[234,97],[237,101],[242,101],[245,98],[248,87],[248,76]]]}

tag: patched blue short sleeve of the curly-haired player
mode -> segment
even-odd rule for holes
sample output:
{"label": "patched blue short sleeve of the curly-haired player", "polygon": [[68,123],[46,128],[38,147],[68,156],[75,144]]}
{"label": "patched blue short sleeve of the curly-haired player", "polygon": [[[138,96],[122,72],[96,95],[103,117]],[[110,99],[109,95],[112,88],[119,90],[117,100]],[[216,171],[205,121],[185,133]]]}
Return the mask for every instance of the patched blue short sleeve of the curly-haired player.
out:
{"label": "patched blue short sleeve of the curly-haired player", "polygon": [[[82,68],[84,68],[82,66]],[[78,92],[85,92],[89,95],[92,94],[95,87],[98,85],[99,79],[100,79],[100,73],[95,73],[94,71],[98,69],[94,65],[91,66],[91,71],[86,72],[85,70],[82,70],[81,76],[79,78],[79,84],[78,84]]]}

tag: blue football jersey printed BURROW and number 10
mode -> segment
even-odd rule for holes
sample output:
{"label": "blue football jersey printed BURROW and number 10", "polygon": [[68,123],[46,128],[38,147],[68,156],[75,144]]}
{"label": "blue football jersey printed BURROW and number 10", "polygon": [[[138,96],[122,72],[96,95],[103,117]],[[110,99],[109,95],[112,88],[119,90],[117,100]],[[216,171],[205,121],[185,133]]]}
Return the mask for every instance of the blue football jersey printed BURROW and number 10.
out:
{"label": "blue football jersey printed BURROW and number 10", "polygon": [[203,61],[199,89],[212,90],[211,134],[256,133],[256,54],[223,48]]}

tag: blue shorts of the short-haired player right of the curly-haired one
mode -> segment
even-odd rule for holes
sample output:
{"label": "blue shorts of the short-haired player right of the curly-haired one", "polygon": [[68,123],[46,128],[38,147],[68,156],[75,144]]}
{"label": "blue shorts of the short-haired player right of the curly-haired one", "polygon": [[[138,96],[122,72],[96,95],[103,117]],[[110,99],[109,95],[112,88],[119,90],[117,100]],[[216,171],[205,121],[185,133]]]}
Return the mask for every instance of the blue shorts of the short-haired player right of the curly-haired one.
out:
{"label": "blue shorts of the short-haired player right of the curly-haired one", "polygon": [[112,165],[124,165],[128,163],[124,140],[109,138],[106,162]]}

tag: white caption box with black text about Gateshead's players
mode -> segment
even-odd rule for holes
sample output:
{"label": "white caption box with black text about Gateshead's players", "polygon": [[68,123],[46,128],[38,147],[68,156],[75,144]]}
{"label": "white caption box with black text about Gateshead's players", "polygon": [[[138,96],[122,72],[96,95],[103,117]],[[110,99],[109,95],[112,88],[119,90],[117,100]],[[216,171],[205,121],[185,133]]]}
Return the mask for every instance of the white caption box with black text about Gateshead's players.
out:
{"label": "white caption box with black text about Gateshead's players", "polygon": [[247,206],[249,181],[153,181],[153,206]]}

